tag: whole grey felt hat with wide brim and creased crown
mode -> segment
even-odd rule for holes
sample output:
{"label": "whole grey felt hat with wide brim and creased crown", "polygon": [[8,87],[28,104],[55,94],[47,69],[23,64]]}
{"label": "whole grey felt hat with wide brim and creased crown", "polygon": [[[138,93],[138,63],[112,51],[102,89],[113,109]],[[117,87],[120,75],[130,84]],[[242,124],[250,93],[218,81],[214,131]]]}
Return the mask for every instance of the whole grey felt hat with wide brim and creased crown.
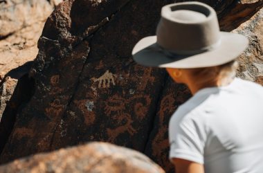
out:
{"label": "whole grey felt hat with wide brim and creased crown", "polygon": [[132,55],[144,66],[189,69],[225,64],[247,46],[243,35],[219,30],[210,6],[183,2],[162,8],[156,35],[141,39]]}

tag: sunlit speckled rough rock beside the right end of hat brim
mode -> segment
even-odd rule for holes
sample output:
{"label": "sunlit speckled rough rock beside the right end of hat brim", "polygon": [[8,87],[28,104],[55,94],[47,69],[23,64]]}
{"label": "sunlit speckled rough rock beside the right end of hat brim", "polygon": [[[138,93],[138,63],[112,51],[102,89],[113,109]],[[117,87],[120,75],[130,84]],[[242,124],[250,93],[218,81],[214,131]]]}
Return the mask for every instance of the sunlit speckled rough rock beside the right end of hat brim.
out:
{"label": "sunlit speckled rough rock beside the right end of hat brim", "polygon": [[263,8],[233,32],[246,35],[250,41],[239,56],[238,76],[263,85]]}

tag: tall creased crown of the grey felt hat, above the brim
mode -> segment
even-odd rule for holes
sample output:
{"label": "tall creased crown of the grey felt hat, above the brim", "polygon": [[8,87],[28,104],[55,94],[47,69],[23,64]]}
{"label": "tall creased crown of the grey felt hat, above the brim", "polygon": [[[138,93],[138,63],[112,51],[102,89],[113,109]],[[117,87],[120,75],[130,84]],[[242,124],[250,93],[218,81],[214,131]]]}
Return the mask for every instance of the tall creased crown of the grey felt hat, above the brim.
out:
{"label": "tall creased crown of the grey felt hat, above the brim", "polygon": [[185,2],[164,6],[157,26],[157,44],[177,54],[207,51],[219,42],[215,10],[204,3]]}

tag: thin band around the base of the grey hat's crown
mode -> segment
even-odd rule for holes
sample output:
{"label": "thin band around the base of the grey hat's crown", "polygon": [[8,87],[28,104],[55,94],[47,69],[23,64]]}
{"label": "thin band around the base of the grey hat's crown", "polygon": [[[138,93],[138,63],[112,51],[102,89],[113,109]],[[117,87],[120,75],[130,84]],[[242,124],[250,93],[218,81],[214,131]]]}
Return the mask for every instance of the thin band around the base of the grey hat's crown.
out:
{"label": "thin band around the base of the grey hat's crown", "polygon": [[172,57],[172,58],[176,58],[178,55],[196,55],[196,54],[199,54],[199,53],[204,53],[204,52],[207,52],[207,51],[212,51],[213,49],[219,47],[221,44],[221,39],[219,39],[215,44],[212,44],[210,46],[206,46],[206,47],[203,47],[203,48],[200,48],[199,50],[191,50],[191,51],[170,51],[170,50],[167,50],[165,48],[163,48],[162,46],[158,45],[159,48],[161,48],[161,51],[167,55],[167,57]]}

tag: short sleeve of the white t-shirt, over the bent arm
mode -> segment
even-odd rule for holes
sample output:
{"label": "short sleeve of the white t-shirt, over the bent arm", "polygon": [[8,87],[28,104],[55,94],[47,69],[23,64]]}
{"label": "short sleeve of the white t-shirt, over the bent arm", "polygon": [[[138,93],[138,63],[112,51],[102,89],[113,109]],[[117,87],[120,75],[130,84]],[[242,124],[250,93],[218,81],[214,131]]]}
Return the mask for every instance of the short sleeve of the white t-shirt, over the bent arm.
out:
{"label": "short sleeve of the white t-shirt, over the bent arm", "polygon": [[201,118],[192,115],[178,119],[174,115],[169,125],[170,159],[183,158],[203,164],[206,131]]}

